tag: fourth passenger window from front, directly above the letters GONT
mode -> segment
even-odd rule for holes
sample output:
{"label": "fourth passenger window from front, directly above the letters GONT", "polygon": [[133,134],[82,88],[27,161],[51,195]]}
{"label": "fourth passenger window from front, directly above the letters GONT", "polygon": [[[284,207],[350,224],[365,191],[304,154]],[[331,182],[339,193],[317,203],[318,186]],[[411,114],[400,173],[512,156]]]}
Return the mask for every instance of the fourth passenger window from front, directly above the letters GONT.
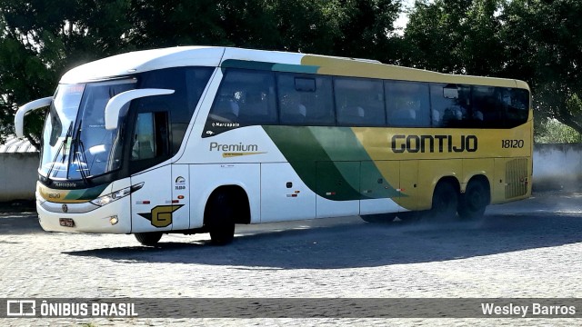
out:
{"label": "fourth passenger window from front, directly above the letters GONT", "polygon": [[[430,125],[428,84],[386,81],[386,112],[389,126],[426,127]],[[433,120],[436,118],[433,114]]]}

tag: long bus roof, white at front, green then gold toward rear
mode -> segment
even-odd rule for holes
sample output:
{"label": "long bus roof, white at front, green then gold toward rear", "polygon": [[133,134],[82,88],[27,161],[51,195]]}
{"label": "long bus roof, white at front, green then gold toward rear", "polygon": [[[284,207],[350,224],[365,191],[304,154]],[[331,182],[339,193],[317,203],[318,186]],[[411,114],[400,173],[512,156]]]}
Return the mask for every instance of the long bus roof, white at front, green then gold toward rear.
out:
{"label": "long bus roof, white at front, green then gold toward rear", "polygon": [[156,69],[188,65],[256,67],[297,73],[529,89],[525,82],[514,79],[442,74],[422,69],[382,64],[366,59],[215,46],[176,46],[117,54],[73,68],[63,75],[61,83],[71,84],[104,80]]}

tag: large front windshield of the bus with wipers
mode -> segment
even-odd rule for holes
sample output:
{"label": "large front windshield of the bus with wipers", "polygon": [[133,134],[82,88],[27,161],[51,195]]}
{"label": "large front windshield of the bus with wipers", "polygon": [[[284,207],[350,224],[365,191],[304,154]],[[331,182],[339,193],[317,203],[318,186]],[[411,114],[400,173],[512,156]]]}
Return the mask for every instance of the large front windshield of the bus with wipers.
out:
{"label": "large front windshield of the bus with wipers", "polygon": [[105,129],[105,105],[134,88],[135,79],[59,85],[43,132],[40,173],[51,179],[85,180],[119,168],[120,135],[118,129]]}

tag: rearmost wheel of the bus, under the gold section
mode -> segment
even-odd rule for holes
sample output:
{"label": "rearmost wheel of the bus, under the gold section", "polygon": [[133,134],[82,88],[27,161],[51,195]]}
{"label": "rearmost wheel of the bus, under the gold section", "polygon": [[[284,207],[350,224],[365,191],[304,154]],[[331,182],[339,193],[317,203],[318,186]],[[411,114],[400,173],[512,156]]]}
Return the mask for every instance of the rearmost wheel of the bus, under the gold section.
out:
{"label": "rearmost wheel of the bus, under the gold section", "polygon": [[488,184],[476,180],[467,185],[467,191],[461,195],[458,203],[458,215],[465,220],[481,219],[489,204]]}

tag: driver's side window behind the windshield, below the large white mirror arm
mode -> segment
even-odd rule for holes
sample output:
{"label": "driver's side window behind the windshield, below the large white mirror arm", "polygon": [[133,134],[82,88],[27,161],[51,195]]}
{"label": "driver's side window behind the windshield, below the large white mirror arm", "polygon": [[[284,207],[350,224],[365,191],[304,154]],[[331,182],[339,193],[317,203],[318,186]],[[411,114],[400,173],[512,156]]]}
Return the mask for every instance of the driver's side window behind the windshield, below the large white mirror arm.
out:
{"label": "driver's side window behind the windshield, below the large white mirror arm", "polygon": [[168,154],[167,113],[137,114],[131,160],[145,160]]}

